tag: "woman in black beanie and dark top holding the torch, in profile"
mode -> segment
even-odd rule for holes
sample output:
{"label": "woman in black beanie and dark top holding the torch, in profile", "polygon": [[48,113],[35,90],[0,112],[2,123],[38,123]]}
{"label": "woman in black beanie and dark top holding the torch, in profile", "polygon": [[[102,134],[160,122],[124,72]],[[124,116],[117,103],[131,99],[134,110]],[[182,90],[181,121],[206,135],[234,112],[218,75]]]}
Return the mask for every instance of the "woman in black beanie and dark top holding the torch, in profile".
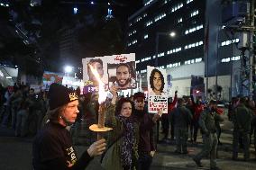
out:
{"label": "woman in black beanie and dark top holding the torch, in profile", "polygon": [[37,134],[32,145],[34,170],[84,170],[93,157],[105,150],[105,139],[93,143],[78,159],[69,130],[76,121],[78,95],[69,88],[52,84],[49,90],[50,121]]}

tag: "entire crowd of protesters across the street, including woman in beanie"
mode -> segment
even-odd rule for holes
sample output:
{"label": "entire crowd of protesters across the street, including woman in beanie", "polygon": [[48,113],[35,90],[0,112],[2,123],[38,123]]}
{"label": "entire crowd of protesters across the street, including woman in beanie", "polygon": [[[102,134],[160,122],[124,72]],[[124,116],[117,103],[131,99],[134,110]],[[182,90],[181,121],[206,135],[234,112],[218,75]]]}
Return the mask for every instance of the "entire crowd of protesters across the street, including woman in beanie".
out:
{"label": "entire crowd of protesters across the street, including woman in beanie", "polygon": [[[187,154],[187,142],[197,143],[201,134],[204,147],[193,160],[201,167],[201,159],[210,156],[211,169],[219,169],[216,154],[218,145],[222,145],[220,122],[224,121],[224,111],[215,100],[195,101],[193,95],[178,98],[175,92],[173,100],[169,99],[168,114],[150,114],[143,93],[120,97],[117,91],[113,86],[112,97],[106,100],[105,126],[113,130],[106,140],[92,138],[80,159],[66,128],[79,121],[86,121],[87,127],[97,123],[96,93],[80,95],[79,89],[75,92],[57,84],[50,85],[49,92],[38,94],[29,85],[0,86],[1,126],[14,129],[16,136],[37,134],[34,169],[83,169],[97,155],[102,155],[105,169],[150,169],[159,141],[160,130],[155,127],[161,127],[162,142],[176,141],[176,154]],[[243,159],[249,160],[251,143],[256,152],[255,111],[255,103],[247,97],[235,97],[228,106],[228,119],[233,121],[233,160],[238,159],[239,148],[243,148]],[[50,148],[52,144],[54,148]]]}

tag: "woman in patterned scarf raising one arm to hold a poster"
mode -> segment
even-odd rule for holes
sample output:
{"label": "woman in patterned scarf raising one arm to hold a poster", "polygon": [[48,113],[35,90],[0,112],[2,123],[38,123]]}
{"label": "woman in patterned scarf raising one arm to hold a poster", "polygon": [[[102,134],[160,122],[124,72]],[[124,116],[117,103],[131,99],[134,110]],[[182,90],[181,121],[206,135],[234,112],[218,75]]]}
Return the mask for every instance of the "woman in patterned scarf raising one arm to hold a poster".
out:
{"label": "woman in patterned scarf raising one arm to hold a poster", "polygon": [[106,170],[136,169],[139,157],[139,125],[132,116],[133,102],[123,98],[116,103],[116,89],[112,87],[111,91],[113,99],[107,108],[105,124],[113,130],[109,134],[102,166]]}

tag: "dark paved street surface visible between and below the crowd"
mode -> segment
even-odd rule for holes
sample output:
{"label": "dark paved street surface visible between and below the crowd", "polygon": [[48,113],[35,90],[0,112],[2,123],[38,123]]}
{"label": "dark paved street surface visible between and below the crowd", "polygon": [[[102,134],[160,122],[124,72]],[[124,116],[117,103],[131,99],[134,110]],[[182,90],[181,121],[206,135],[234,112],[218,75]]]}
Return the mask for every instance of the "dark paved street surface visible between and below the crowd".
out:
{"label": "dark paved street surface visible between and below the crowd", "polygon": [[[232,124],[229,121],[224,121],[222,124],[224,134],[222,135],[223,145],[219,147],[217,165],[224,170],[252,170],[256,169],[255,155],[251,145],[251,160],[249,162],[242,161],[242,154],[239,155],[241,161],[233,161],[232,157]],[[0,129],[0,169],[2,170],[32,170],[32,138],[16,138],[14,131],[10,129]],[[199,135],[200,136],[200,135]],[[169,144],[160,143],[158,145],[158,153],[155,155],[152,170],[167,170],[167,169],[209,169],[208,159],[202,161],[204,167],[197,168],[191,157],[195,155],[202,147],[201,139],[197,145],[192,145],[188,142],[189,153],[185,155],[174,154],[174,141]],[[86,147],[76,146],[78,155],[81,154]],[[92,164],[87,167],[89,170],[102,169],[99,165],[99,157],[93,160]]]}

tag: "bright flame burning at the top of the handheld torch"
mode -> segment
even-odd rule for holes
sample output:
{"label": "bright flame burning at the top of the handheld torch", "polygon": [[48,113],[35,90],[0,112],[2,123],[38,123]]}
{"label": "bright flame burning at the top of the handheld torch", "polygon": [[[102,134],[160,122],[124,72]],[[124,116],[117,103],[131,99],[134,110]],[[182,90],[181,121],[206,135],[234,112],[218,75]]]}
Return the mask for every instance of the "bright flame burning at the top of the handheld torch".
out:
{"label": "bright flame burning at the top of the handheld torch", "polygon": [[92,65],[90,64],[88,64],[88,66],[90,67],[92,73],[94,74],[98,82],[98,103],[99,104],[104,103],[107,95],[107,93],[105,92],[105,83],[103,83],[103,81],[100,79],[100,76],[96,68],[92,67]]}

